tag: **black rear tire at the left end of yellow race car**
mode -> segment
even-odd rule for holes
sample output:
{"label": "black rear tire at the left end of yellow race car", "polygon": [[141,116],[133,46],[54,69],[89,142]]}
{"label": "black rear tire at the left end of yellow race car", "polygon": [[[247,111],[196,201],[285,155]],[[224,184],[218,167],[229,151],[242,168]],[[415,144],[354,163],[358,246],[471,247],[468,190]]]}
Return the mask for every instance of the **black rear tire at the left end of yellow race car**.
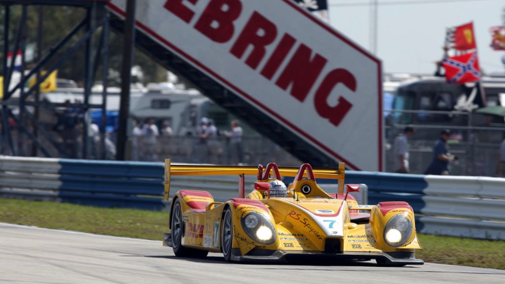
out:
{"label": "black rear tire at the left end of yellow race car", "polygon": [[177,199],[174,203],[174,208],[172,209],[172,214],[170,214],[170,224],[171,224],[171,236],[172,236],[172,249],[174,254],[178,257],[206,257],[209,254],[208,251],[195,250],[190,248],[185,248],[182,246],[182,234],[185,229],[184,222],[182,221],[182,210],[181,203]]}

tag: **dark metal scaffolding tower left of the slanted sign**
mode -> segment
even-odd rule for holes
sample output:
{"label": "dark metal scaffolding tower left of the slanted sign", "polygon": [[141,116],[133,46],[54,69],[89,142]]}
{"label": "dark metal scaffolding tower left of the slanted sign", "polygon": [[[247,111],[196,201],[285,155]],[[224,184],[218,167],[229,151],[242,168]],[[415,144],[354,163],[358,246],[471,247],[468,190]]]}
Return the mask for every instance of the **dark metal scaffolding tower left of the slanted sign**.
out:
{"label": "dark metal scaffolding tower left of the slanted sign", "polygon": [[[46,156],[51,157],[51,153],[44,147],[40,141],[41,134],[49,143],[51,143],[62,157],[70,157],[69,153],[58,145],[58,141],[41,125],[38,121],[39,108],[75,108],[83,113],[83,131],[82,131],[82,155],[81,158],[89,157],[89,138],[88,127],[90,122],[89,110],[102,110],[102,123],[100,125],[100,158],[105,159],[105,122],[106,122],[106,104],[107,104],[107,78],[108,78],[108,62],[109,62],[109,12],[106,9],[106,0],[31,0],[26,1],[2,1],[2,9],[4,9],[4,34],[3,34],[3,93],[4,97],[1,101],[1,124],[2,124],[2,139],[0,139],[0,154],[25,156],[27,153],[23,151],[25,136],[33,141],[37,150]],[[53,48],[45,55],[40,53],[41,40],[37,40],[38,58],[35,67],[26,70],[25,49],[26,49],[26,21],[27,21],[27,6],[39,5],[42,9],[45,5],[56,6],[73,6],[86,9],[86,16],[72,30],[67,33]],[[9,30],[11,19],[10,12],[13,6],[21,6],[21,18],[16,29],[16,35],[13,46],[9,44]],[[39,10],[40,11],[40,10]],[[42,13],[38,13],[39,28],[38,38],[42,33]],[[93,35],[99,32],[99,40],[96,48],[93,45]],[[82,33],[82,34],[80,34]],[[96,37],[96,36],[95,36]],[[69,44],[71,39],[78,40]],[[84,46],[84,100],[82,103],[51,103],[47,101],[39,101],[38,92],[40,84],[57,70],[71,55],[73,55],[81,46]],[[21,51],[18,55],[18,51]],[[11,66],[8,64],[8,54],[12,52]],[[58,53],[62,55],[56,57]],[[10,88],[12,75],[14,72],[14,62],[16,58],[21,57],[20,81],[14,87]],[[51,64],[49,64],[51,63]],[[90,104],[89,96],[91,94],[91,86],[95,78],[98,66],[102,65],[102,104]],[[42,73],[42,69],[45,73]],[[25,71],[26,70],[26,71]],[[28,80],[35,78],[35,84],[27,88]],[[13,94],[19,92],[19,98],[13,98]],[[33,107],[33,112],[27,109],[27,106]],[[16,112],[14,112],[16,110]],[[17,113],[17,114],[16,114]],[[16,123],[17,130],[17,147],[11,135],[12,127],[9,123],[12,119]],[[28,122],[32,127],[28,127]],[[35,147],[34,147],[35,148]],[[36,151],[32,151],[35,152]],[[32,153],[33,154],[33,153]]]}

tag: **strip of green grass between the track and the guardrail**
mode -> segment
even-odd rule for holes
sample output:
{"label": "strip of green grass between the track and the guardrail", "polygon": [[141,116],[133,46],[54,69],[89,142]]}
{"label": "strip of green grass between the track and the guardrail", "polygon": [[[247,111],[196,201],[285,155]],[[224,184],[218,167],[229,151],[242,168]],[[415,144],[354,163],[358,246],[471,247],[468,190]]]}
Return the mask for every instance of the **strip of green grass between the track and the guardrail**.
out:
{"label": "strip of green grass between the track and the guardrail", "polygon": [[[0,199],[0,222],[161,240],[168,212]],[[505,269],[505,241],[419,234],[426,262]]]}

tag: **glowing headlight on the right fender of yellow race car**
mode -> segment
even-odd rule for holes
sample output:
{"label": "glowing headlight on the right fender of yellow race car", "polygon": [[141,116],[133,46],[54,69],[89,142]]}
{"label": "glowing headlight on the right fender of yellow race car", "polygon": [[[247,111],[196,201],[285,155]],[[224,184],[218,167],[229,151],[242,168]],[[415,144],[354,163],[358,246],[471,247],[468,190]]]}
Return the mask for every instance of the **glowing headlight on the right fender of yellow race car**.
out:
{"label": "glowing headlight on the right fender of yellow race car", "polygon": [[406,214],[398,214],[387,221],[384,240],[391,247],[401,247],[412,234],[412,222]]}

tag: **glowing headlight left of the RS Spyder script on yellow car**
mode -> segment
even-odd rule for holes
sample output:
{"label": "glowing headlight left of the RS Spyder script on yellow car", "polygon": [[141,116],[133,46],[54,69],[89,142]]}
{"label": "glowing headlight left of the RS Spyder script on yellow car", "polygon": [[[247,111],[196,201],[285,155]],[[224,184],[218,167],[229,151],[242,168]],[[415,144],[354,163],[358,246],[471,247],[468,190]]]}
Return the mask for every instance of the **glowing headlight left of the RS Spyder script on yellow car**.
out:
{"label": "glowing headlight left of the RS Spyder script on yellow car", "polygon": [[240,218],[240,223],[245,233],[255,242],[270,245],[277,239],[274,225],[267,217],[258,212],[244,212]]}

